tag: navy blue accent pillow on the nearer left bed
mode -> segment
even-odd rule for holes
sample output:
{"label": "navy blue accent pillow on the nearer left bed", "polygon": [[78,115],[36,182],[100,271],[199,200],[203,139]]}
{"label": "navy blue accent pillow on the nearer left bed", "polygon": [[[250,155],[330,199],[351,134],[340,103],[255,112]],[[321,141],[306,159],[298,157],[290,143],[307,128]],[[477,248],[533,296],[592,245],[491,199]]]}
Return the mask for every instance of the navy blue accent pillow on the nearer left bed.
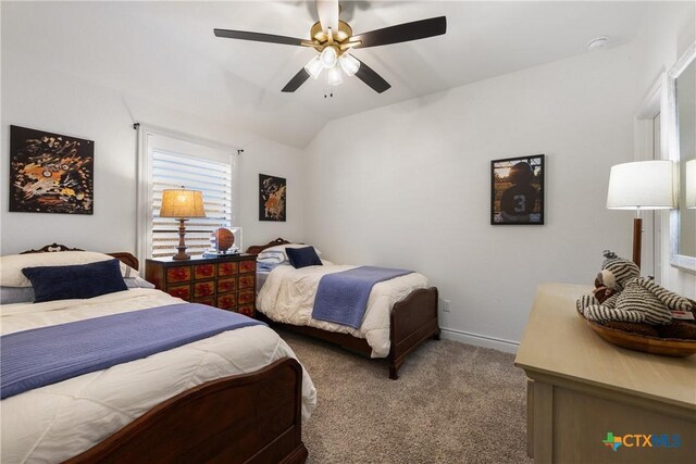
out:
{"label": "navy blue accent pillow on the nearer left bed", "polygon": [[94,298],[127,290],[119,260],[71,266],[25,267],[22,273],[34,288],[34,302]]}

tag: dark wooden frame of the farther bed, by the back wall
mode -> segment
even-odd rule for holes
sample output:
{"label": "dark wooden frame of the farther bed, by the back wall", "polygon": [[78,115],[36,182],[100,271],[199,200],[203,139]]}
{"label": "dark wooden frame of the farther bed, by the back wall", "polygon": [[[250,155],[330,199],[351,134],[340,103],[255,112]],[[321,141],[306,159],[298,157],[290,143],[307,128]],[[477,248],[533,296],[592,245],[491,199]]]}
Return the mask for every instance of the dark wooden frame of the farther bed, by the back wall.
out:
{"label": "dark wooden frame of the farther bed, by the back wall", "polygon": [[[249,247],[247,253],[259,254],[266,248],[286,243],[289,243],[289,241],[283,238],[276,238],[266,244]],[[437,287],[420,288],[413,290],[406,299],[397,302],[394,304],[394,308],[391,308],[389,316],[389,341],[391,348],[387,355],[390,379],[396,380],[399,378],[399,367],[401,367],[401,364],[406,361],[406,356],[411,351],[415,350],[430,338],[439,340],[437,297]],[[348,334],[326,331],[315,327],[276,323],[260,314],[261,313],[257,311],[257,318],[263,319],[273,326],[336,343],[368,356],[372,353],[372,348],[363,338],[356,338]]]}

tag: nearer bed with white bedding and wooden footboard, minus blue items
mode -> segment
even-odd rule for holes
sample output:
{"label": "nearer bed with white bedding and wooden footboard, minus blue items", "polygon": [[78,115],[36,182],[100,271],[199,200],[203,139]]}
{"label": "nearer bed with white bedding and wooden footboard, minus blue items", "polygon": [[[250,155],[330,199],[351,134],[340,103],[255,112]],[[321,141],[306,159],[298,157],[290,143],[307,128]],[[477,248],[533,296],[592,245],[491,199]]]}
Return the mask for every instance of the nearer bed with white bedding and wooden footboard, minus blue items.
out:
{"label": "nearer bed with white bedding and wooden footboard, minus blue items", "polygon": [[[59,251],[50,259],[3,256],[3,286],[22,267],[98,254],[61,249],[47,249]],[[133,255],[115,254],[137,268]],[[181,302],[130,288],[2,304],[2,335]],[[4,398],[0,461],[301,463],[301,422],[315,403],[313,384],[285,341],[264,325],[244,327]]]}

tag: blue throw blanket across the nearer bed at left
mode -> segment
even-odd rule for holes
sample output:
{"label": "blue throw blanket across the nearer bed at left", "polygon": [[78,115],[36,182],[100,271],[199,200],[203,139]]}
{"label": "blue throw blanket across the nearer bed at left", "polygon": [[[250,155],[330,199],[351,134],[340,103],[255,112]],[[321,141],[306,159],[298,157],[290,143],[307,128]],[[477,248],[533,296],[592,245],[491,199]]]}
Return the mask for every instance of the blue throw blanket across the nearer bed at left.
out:
{"label": "blue throw blanket across the nearer bed at left", "polygon": [[258,324],[263,323],[183,303],[4,335],[0,398]]}

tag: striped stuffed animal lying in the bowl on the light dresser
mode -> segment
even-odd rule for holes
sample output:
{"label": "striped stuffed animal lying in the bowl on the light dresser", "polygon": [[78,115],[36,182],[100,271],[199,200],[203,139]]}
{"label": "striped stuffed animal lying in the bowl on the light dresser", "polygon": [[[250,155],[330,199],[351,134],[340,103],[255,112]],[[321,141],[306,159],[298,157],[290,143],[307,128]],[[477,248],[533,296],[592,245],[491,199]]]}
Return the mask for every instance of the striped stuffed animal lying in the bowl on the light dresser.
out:
{"label": "striped stuffed animal lying in the bowl on the light dresser", "polygon": [[[577,310],[588,319],[663,325],[672,321],[670,310],[691,310],[687,299],[663,289],[651,279],[639,277],[641,271],[635,263],[611,251],[605,251],[605,258],[596,284],[601,284],[612,293],[602,302],[595,294],[577,300]],[[604,293],[602,297],[606,296]]]}

